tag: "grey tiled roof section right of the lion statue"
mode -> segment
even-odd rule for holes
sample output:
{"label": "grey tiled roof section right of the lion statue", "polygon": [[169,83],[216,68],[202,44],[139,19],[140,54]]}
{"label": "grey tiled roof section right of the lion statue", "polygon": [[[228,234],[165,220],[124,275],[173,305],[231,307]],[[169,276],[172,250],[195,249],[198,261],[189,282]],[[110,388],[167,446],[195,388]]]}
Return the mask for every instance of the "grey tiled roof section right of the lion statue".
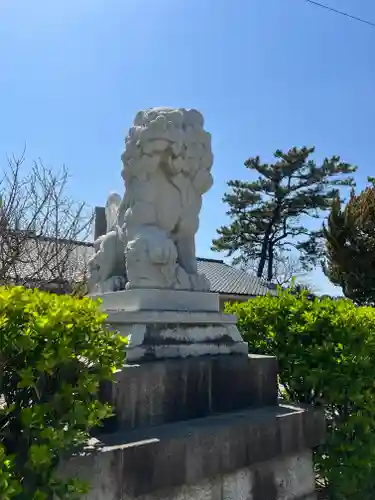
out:
{"label": "grey tiled roof section right of the lion statue", "polygon": [[265,281],[240,269],[229,266],[222,260],[198,258],[198,271],[211,283],[211,292],[228,295],[276,294],[276,289]]}

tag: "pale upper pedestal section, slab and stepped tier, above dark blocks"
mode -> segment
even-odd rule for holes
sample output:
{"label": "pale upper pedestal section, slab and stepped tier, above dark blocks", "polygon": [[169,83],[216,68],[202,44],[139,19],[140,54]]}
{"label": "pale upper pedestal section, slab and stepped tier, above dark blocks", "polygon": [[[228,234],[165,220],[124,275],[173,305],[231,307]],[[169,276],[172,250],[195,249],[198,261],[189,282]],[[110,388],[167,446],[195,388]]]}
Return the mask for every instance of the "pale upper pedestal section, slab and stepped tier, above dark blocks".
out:
{"label": "pale upper pedestal section, slab and stepped tier, above dark blocks", "polygon": [[247,355],[236,318],[219,312],[218,294],[139,289],[95,297],[108,323],[129,338],[128,362]]}

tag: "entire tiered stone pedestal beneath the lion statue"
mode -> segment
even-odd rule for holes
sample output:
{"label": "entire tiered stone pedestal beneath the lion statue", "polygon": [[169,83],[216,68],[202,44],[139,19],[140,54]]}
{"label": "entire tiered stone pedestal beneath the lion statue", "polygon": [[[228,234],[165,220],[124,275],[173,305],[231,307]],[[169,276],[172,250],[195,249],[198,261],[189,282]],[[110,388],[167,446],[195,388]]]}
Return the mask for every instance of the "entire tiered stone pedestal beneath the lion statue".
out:
{"label": "entire tiered stone pedestal beneath the lion statue", "polygon": [[[277,361],[247,355],[215,294],[102,295],[130,335],[128,364],[101,387],[113,418],[61,474],[86,500],[313,500],[322,412],[279,404]],[[134,362],[134,361],[137,362]]]}

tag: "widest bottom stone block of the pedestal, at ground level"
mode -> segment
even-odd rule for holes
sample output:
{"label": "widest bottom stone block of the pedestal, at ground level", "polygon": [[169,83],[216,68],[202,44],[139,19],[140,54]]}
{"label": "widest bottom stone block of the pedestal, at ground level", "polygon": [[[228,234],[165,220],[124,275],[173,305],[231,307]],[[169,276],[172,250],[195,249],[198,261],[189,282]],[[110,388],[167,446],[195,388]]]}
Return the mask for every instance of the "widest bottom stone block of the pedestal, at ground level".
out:
{"label": "widest bottom stone block of the pedestal, at ground level", "polygon": [[61,474],[91,483],[86,500],[313,499],[324,437],[321,412],[253,409],[102,436]]}

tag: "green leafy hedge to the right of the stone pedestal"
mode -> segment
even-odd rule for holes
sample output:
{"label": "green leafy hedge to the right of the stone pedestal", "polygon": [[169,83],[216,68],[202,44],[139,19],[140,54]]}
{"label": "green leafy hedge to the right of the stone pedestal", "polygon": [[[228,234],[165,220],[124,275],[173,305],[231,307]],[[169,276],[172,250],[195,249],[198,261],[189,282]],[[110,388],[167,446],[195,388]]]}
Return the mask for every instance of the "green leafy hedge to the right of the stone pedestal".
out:
{"label": "green leafy hedge to the right of the stone pedestal", "polygon": [[285,397],[324,405],[317,474],[334,499],[375,498],[375,309],[279,292],[228,304],[252,353],[279,360]]}

